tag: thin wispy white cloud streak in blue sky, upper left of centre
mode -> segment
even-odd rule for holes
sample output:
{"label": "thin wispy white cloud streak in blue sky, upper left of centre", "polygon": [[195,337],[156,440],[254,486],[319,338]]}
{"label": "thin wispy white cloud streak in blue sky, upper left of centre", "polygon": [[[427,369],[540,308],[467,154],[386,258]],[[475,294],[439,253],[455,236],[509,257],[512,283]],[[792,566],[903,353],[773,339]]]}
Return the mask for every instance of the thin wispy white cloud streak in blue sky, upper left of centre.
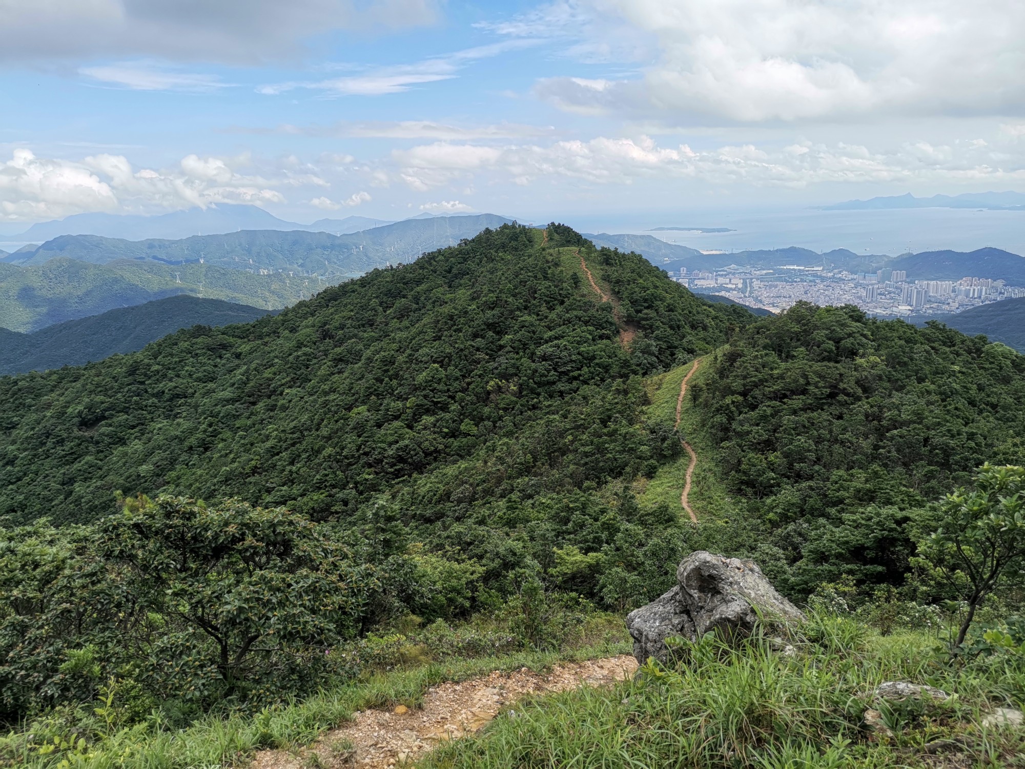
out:
{"label": "thin wispy white cloud streak in blue sky, upper left of centre", "polygon": [[256,90],[268,95],[277,95],[296,88],[311,88],[334,96],[379,96],[387,93],[402,93],[415,85],[436,83],[458,77],[458,72],[470,62],[497,56],[507,50],[534,45],[530,40],[507,40],[492,45],[433,56],[412,65],[397,65],[368,70],[357,75],[329,78],[316,81],[292,81],[261,85]]}

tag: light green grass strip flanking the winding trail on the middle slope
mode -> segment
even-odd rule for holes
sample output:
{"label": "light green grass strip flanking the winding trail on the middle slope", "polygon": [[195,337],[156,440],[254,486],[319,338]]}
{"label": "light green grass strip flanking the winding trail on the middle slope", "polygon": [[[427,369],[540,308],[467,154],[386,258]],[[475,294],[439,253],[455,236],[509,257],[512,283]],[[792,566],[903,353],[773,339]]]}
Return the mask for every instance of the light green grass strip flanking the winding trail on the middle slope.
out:
{"label": "light green grass strip flanking the winding trail on the middle slope", "polygon": [[[729,525],[735,509],[717,474],[717,456],[715,447],[705,439],[700,426],[700,414],[691,404],[690,388],[701,382],[709,375],[707,356],[699,359],[701,365],[688,381],[688,392],[684,397],[681,409],[680,433],[694,448],[698,460],[694,466],[694,476],[691,481],[689,501],[703,527]],[[649,380],[648,419],[651,421],[673,424],[676,418],[676,399],[680,396],[680,383],[693,368],[694,363],[679,366],[665,374]],[[687,467],[690,456],[686,453],[672,462],[659,468],[658,473],[649,479],[640,495],[638,502],[643,509],[651,509],[660,503],[669,504],[679,510],[681,516],[687,514],[680,505],[680,494],[684,490],[687,479]]]}

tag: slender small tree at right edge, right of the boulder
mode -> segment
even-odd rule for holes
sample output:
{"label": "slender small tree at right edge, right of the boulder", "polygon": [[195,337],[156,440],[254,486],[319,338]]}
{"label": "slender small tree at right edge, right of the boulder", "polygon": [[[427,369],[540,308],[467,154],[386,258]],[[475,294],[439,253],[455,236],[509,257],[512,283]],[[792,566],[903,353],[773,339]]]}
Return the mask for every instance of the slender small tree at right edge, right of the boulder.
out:
{"label": "slender small tree at right edge, right of the boulder", "polygon": [[968,605],[956,648],[986,597],[1025,570],[1025,468],[984,464],[975,489],[949,494],[940,516],[919,551]]}

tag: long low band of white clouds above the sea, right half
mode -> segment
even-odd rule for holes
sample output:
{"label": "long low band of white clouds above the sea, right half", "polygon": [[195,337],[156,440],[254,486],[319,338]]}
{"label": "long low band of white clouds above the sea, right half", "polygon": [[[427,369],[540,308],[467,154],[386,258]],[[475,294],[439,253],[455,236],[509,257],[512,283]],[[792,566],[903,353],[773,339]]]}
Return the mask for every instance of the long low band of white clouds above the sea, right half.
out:
{"label": "long low band of white clouds above the sea, right half", "polygon": [[393,160],[416,191],[462,184],[478,175],[520,185],[540,178],[588,185],[693,178],[715,185],[795,188],[818,183],[1025,180],[1025,156],[996,153],[976,141],[951,146],[908,141],[890,150],[797,141],[786,147],[741,144],[695,151],[688,145],[661,147],[646,136],[600,136],[547,146],[435,143],[394,151]]}

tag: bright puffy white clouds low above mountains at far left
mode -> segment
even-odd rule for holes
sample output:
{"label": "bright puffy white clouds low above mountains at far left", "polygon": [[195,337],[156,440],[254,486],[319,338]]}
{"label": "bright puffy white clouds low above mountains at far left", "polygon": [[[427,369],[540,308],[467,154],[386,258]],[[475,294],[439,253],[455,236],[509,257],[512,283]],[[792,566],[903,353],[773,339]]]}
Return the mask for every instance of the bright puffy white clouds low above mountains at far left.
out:
{"label": "bright puffy white clouds low above mountains at far left", "polygon": [[242,159],[189,155],[177,168],[136,170],[121,155],[98,154],[81,161],[39,158],[16,149],[0,165],[0,214],[22,221],[87,211],[159,210],[213,203],[283,203],[273,189],[289,176],[266,179],[240,173]]}

